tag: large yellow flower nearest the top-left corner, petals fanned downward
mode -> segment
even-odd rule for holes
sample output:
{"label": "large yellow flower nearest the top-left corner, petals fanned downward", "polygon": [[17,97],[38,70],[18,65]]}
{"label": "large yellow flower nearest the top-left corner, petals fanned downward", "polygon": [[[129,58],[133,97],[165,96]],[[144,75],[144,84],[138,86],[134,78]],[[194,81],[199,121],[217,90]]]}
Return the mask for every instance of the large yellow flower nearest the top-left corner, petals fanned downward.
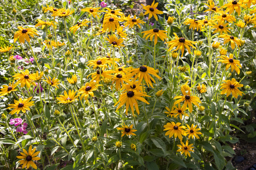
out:
{"label": "large yellow flower nearest the top-left corner, petals fanned downward", "polygon": [[37,34],[36,28],[23,28],[22,26],[18,26],[18,31],[14,34],[14,42],[17,40],[20,43],[25,43],[25,39],[27,42],[30,42],[29,35],[34,38],[34,34]]}

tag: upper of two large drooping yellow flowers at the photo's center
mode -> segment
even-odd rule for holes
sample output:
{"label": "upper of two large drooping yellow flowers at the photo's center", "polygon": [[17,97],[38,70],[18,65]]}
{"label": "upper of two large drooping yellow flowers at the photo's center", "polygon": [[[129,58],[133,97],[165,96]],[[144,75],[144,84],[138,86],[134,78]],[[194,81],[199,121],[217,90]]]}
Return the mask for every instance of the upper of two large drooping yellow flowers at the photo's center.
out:
{"label": "upper of two large drooping yellow flowers at the photo's center", "polygon": [[148,66],[141,66],[139,68],[132,69],[131,74],[128,77],[132,77],[132,76],[136,75],[134,77],[134,80],[137,80],[137,78],[138,78],[138,83],[139,84],[142,82],[142,80],[144,78],[147,86],[150,85],[152,88],[154,88],[152,83],[151,83],[151,80],[155,83],[155,79],[152,76],[150,76],[149,74],[152,74],[153,76],[155,76],[158,79],[162,79],[160,76],[158,76],[156,74],[156,72],[157,71],[154,68],[151,68],[151,67],[148,67]]}

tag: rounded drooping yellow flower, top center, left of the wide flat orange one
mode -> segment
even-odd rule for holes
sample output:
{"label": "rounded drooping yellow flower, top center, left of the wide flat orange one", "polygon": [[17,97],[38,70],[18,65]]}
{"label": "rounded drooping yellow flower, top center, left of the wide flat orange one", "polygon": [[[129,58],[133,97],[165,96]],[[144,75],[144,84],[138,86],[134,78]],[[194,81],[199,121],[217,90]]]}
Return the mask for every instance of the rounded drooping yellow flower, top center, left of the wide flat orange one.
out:
{"label": "rounded drooping yellow flower, top center, left of the wide flat orange one", "polygon": [[109,17],[104,17],[103,20],[103,29],[109,31],[115,32],[116,29],[119,28],[119,22],[121,22],[122,19],[116,16],[109,16]]}

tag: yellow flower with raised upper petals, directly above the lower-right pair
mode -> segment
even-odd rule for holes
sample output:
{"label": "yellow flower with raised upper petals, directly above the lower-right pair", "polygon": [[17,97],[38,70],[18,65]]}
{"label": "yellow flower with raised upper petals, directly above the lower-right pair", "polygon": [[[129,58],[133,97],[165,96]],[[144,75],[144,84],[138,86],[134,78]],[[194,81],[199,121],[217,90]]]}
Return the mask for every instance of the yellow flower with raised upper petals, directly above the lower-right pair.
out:
{"label": "yellow flower with raised upper petals, directly above the lower-right pair", "polygon": [[198,103],[201,103],[199,97],[197,96],[191,96],[191,92],[190,92],[190,89],[188,90],[188,92],[186,93],[185,89],[183,87],[181,87],[181,91],[183,93],[183,96],[175,96],[174,97],[174,100],[175,99],[179,99],[177,101],[174,102],[174,105],[177,104],[177,103],[180,103],[180,102],[184,102],[184,105],[183,105],[183,109],[184,108],[187,108],[187,105],[189,107],[189,111],[192,112],[193,111],[193,107],[192,107],[192,103],[194,105],[196,105],[197,107],[199,107],[199,104]]}

